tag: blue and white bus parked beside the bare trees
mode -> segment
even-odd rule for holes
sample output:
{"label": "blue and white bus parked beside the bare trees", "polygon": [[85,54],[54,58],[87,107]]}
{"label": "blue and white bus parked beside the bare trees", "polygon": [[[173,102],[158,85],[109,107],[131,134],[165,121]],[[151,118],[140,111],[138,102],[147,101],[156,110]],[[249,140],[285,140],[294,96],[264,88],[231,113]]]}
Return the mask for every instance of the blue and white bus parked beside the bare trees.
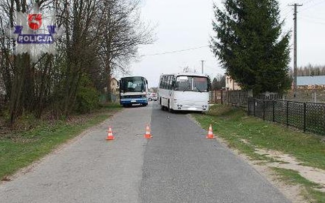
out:
{"label": "blue and white bus parked beside the bare trees", "polygon": [[124,107],[148,105],[148,80],[141,76],[122,77],[120,83],[120,104]]}

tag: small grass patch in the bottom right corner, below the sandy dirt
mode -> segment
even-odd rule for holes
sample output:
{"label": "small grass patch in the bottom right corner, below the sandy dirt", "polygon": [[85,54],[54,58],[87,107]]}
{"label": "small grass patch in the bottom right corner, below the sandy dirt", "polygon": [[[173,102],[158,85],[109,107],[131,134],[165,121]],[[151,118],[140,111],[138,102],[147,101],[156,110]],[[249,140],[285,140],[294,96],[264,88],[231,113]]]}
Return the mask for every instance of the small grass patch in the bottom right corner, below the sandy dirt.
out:
{"label": "small grass patch in the bottom right corner, below the sandy dirt", "polygon": [[309,200],[310,202],[325,202],[325,193],[316,190],[322,188],[321,185],[305,179],[295,170],[276,167],[272,167],[272,169],[279,176],[281,181],[288,184],[304,186],[305,191],[303,192],[303,196],[306,200]]}

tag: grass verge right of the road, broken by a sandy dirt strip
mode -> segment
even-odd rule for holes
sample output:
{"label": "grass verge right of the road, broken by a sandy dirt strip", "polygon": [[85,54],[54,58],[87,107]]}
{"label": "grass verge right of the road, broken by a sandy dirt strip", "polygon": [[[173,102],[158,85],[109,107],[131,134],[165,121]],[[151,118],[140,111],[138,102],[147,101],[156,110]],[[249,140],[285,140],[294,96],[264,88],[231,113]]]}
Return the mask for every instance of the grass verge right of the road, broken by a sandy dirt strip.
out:
{"label": "grass verge right of the road, broken by a sandy dirt strip", "polygon": [[[245,111],[230,106],[214,105],[207,114],[193,117],[204,129],[212,124],[214,133],[226,140],[230,148],[236,148],[252,160],[274,161],[255,152],[256,148],[267,149],[293,155],[303,165],[325,169],[325,144],[320,136],[248,117]],[[308,180],[302,181],[304,178],[298,173],[272,169],[289,183],[303,185],[307,191],[303,195],[308,200],[325,202],[325,193],[314,190],[317,187]]]}

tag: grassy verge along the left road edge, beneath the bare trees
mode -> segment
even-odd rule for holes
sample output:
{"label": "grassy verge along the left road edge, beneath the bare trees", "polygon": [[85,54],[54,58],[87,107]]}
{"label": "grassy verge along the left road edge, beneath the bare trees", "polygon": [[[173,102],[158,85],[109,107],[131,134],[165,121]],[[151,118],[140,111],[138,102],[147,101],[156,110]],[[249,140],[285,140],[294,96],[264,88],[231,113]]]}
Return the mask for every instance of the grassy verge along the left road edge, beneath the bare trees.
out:
{"label": "grassy verge along the left road edge, beneath the bare trees", "polygon": [[119,109],[119,105],[107,105],[78,119],[77,122],[40,122],[39,126],[31,130],[1,135],[0,180],[6,180],[7,176],[12,175],[18,169],[42,158],[87,128],[105,121]]}

